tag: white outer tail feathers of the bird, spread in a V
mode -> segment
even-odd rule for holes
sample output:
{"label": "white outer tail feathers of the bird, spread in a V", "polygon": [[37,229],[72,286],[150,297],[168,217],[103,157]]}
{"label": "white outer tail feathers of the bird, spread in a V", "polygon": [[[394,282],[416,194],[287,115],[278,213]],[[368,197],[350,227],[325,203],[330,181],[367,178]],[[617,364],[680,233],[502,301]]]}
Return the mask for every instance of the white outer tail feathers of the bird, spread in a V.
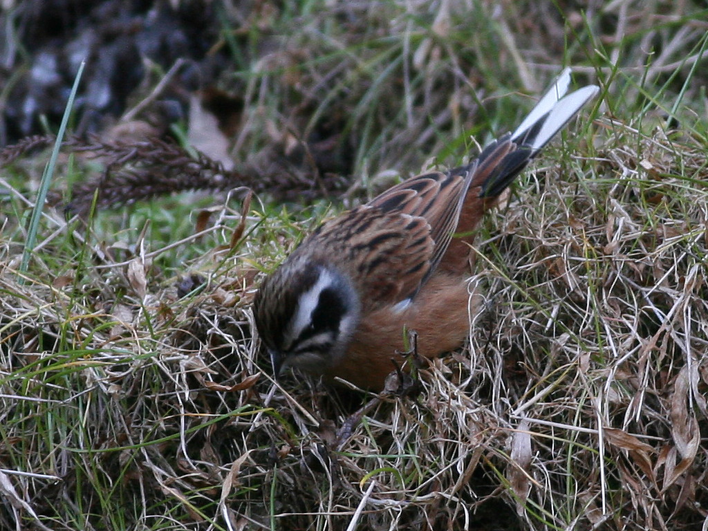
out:
{"label": "white outer tail feathers of the bird, spread in a V", "polygon": [[596,85],[584,86],[566,96],[571,83],[571,69],[566,68],[558,76],[551,89],[544,94],[531,112],[524,118],[523,122],[511,135],[511,139],[516,141],[523,137],[538,122],[543,121],[540,130],[532,138],[528,145],[534,152],[542,149],[566,123],[600,91]]}

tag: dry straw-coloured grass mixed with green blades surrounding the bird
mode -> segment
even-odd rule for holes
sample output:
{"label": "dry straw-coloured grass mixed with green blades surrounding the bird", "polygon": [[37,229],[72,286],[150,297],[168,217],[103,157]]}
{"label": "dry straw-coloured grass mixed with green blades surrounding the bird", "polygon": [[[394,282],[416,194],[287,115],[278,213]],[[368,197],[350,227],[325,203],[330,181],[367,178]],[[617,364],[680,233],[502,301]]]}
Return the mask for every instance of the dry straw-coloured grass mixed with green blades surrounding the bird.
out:
{"label": "dry straw-coloured grass mixed with green blades surrounding the bird", "polygon": [[356,201],[512,127],[531,102],[511,92],[564,59],[603,103],[486,217],[469,348],[410,396],[275,385],[252,340],[263,270],[327,202],[47,210],[20,275],[36,169],[18,161],[0,181],[0,527],[705,528],[704,13],[285,4],[241,21],[263,49],[224,81],[244,89],[244,173],[307,173],[273,153],[324,131],[353,153]]}

